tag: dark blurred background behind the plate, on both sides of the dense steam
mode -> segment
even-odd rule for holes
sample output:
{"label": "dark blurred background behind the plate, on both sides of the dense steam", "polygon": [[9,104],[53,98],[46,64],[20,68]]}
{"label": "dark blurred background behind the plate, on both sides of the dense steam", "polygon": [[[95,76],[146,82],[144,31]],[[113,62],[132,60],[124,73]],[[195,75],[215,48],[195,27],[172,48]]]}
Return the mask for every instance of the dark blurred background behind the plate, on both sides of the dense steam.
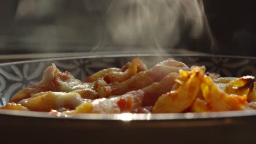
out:
{"label": "dark blurred background behind the plate, on both sides of the dense steam", "polygon": [[[37,3],[40,5],[37,7],[34,2],[31,0],[27,0],[25,4],[24,1],[14,0],[0,2],[0,17],[2,18],[0,22],[0,55],[133,50],[132,48],[120,48],[127,45],[113,44],[106,38],[107,34],[104,31],[103,23],[106,19],[104,17],[106,8],[104,7],[109,5],[108,1],[99,0],[95,1],[96,3],[93,1],[92,3],[55,1],[56,6],[49,9],[48,12],[42,12],[42,10],[44,7],[48,8],[49,5]],[[97,2],[101,3],[100,7],[97,7],[99,5]],[[171,47],[168,45],[163,47],[167,52],[173,52],[169,50],[183,47],[189,51],[220,55],[256,56],[255,3],[255,1],[250,0],[204,0],[206,19],[214,43],[211,43],[206,29],[201,37],[192,39],[187,34],[189,28],[185,27],[182,33],[182,42]],[[26,12],[24,5],[28,7],[28,12]],[[21,11],[22,7],[25,12]],[[63,17],[61,17],[62,15]],[[69,15],[69,19],[64,18],[67,15]],[[81,16],[86,17],[86,23],[79,21]],[[57,22],[56,17],[58,18]],[[65,25],[60,25],[60,23]],[[207,25],[207,22],[205,23]],[[57,25],[60,26],[59,30],[55,28]],[[67,26],[78,29],[71,31],[67,29]],[[57,35],[57,37],[51,37],[51,35]],[[128,46],[133,47],[134,45]],[[147,48],[142,46],[141,49]]]}

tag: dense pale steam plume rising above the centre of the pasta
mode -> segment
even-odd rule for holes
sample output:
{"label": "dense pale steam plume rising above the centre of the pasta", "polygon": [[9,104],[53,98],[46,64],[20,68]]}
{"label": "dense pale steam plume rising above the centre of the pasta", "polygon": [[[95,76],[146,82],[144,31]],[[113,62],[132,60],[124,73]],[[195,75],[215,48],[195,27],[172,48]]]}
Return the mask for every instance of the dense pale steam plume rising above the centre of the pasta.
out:
{"label": "dense pale steam plume rising above the centre of the pasta", "polygon": [[205,26],[202,2],[197,0],[113,1],[106,17],[113,43],[152,46],[160,51],[181,43],[184,31],[199,38]]}

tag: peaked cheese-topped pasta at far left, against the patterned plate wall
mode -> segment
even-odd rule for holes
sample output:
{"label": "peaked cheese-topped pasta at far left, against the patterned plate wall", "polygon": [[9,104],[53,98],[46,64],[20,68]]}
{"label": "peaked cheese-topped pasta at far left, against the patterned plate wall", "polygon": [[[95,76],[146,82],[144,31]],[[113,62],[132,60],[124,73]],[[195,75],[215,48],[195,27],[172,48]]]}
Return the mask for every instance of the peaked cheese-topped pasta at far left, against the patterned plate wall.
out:
{"label": "peaked cheese-topped pasta at far left, against the patterned plate wall", "polygon": [[36,85],[21,89],[14,95],[11,102],[18,103],[22,99],[30,98],[32,94],[40,92],[72,92],[80,90],[82,98],[98,98],[94,91],[94,83],[84,83],[74,78],[74,76],[65,71],[61,73],[53,64],[44,71],[43,79]]}

